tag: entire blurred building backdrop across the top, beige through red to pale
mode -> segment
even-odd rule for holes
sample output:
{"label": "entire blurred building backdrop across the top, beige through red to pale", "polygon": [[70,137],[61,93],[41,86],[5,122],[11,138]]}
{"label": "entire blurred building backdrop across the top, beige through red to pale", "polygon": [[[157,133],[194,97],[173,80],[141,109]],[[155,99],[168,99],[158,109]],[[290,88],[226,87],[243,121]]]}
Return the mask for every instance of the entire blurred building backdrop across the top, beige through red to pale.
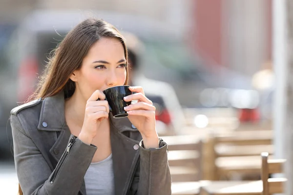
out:
{"label": "entire blurred building backdrop across the top, beige through red to pale", "polygon": [[17,23],[34,9],[99,9],[146,16],[172,26],[170,30],[190,43],[206,64],[248,76],[272,56],[272,0],[1,0],[0,23]]}

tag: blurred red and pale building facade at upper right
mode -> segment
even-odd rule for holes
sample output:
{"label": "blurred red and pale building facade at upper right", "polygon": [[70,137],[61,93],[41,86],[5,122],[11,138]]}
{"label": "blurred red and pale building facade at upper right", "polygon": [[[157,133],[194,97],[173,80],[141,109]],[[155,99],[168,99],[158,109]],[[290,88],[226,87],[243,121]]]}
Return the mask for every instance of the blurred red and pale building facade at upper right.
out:
{"label": "blurred red and pale building facade at upper right", "polygon": [[195,0],[192,46],[208,64],[252,76],[272,59],[272,0]]}

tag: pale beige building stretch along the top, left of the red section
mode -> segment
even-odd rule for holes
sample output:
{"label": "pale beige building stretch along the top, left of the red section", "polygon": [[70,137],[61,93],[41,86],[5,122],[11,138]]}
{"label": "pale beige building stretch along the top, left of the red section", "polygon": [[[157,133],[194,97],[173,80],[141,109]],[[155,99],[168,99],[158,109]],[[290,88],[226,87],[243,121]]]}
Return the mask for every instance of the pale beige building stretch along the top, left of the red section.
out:
{"label": "pale beige building stretch along the top, left of the red section", "polygon": [[174,31],[186,29],[191,15],[190,4],[192,4],[192,0],[0,0],[0,2],[0,22],[19,22],[34,9],[89,11],[98,9],[146,16],[174,25]]}

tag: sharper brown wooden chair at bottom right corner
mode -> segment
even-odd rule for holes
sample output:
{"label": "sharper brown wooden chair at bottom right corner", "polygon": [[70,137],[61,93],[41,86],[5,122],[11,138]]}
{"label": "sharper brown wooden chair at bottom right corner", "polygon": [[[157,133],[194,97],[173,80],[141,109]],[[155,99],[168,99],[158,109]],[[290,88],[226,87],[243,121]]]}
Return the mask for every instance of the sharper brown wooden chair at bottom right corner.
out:
{"label": "sharper brown wooden chair at bottom right corner", "polygon": [[262,167],[261,179],[263,183],[262,195],[283,193],[286,178],[269,178],[270,174],[283,173],[285,159],[268,160],[269,153],[261,153]]}

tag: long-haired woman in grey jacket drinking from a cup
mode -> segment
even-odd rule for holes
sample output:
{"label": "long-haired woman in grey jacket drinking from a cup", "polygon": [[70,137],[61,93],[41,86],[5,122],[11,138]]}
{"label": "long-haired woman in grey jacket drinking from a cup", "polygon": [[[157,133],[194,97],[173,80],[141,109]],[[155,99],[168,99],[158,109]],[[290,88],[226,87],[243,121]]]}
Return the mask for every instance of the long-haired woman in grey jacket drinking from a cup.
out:
{"label": "long-haired woman in grey jacket drinking from a cup", "polygon": [[[170,195],[167,144],[155,107],[138,100],[115,119],[102,91],[127,83],[118,30],[88,19],[56,48],[29,103],[11,111],[17,175],[24,195]],[[97,101],[97,99],[100,99]]]}

